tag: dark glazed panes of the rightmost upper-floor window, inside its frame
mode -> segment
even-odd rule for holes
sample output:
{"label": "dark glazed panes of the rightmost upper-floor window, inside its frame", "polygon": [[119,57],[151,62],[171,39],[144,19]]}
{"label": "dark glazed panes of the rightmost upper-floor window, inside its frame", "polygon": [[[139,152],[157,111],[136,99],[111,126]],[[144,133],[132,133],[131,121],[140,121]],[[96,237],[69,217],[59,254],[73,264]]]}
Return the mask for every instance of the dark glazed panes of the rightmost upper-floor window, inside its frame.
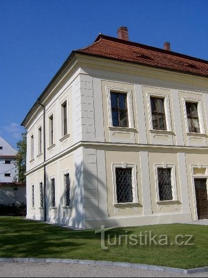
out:
{"label": "dark glazed panes of the rightmost upper-floor window, inside its frame", "polygon": [[200,133],[197,103],[186,102],[186,114],[188,121],[188,131]]}

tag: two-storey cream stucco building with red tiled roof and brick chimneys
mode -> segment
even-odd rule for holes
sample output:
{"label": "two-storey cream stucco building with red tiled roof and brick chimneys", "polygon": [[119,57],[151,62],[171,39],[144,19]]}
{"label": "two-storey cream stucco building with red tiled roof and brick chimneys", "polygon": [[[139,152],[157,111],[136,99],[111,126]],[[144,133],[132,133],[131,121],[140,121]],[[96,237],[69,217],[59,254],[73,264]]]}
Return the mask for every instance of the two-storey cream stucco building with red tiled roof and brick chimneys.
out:
{"label": "two-storey cream stucco building with red tiled roof and brick chimneys", "polygon": [[208,218],[208,64],[118,34],[73,51],[22,123],[27,218],[79,228]]}

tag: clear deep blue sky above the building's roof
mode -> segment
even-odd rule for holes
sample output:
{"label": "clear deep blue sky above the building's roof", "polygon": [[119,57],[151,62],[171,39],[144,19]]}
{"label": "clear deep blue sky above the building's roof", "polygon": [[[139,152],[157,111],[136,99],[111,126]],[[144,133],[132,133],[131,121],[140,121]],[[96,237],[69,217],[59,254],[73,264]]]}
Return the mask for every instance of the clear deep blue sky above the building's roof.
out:
{"label": "clear deep blue sky above the building's roof", "polygon": [[16,147],[20,123],[70,52],[98,33],[208,60],[208,1],[1,0],[0,136]]}

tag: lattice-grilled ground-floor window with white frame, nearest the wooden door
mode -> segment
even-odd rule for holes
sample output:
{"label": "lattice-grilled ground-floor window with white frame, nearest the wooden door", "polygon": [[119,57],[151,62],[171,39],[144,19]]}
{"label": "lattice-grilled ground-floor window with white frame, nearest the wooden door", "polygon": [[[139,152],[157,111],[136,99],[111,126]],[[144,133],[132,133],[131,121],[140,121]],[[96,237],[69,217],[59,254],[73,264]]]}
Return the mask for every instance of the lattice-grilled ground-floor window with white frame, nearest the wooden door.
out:
{"label": "lattice-grilled ground-floor window with white frame, nearest the wooden door", "polygon": [[157,183],[157,202],[177,201],[175,166],[172,164],[155,165]]}

